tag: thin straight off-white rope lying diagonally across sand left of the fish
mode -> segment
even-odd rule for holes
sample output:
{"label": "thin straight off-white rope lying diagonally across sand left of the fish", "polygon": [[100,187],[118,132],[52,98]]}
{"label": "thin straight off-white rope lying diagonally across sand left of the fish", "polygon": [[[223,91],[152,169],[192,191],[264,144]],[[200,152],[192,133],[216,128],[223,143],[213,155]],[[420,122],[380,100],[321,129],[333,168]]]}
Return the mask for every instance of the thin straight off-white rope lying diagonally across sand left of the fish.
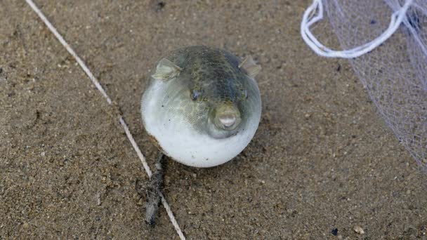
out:
{"label": "thin straight off-white rope lying diagonally across sand left of the fish", "polygon": [[[89,77],[89,79],[91,79],[92,83],[103,94],[103,96],[107,100],[108,104],[111,105],[112,104],[111,98],[107,95],[107,93],[105,93],[103,86],[101,86],[98,79],[96,79],[96,77],[93,76],[91,70],[88,69],[88,67],[83,62],[83,60],[81,60],[81,58],[76,54],[76,52],[74,52],[74,50],[70,47],[70,45],[67,44],[67,41],[65,41],[63,36],[61,36],[59,34],[58,30],[56,30],[56,28],[53,27],[53,25],[51,24],[51,22],[49,22],[49,20],[46,18],[46,16],[43,13],[41,13],[40,9],[36,6],[36,4],[34,4],[34,2],[32,0],[25,0],[25,1],[27,1],[27,4],[32,8],[32,10],[35,13],[37,13],[37,15],[39,15],[39,18],[41,18],[41,20],[44,22],[44,24],[48,27],[49,30],[51,30],[53,35],[55,35],[55,37],[60,41],[60,43],[63,44],[63,46],[67,49],[68,53],[70,53],[74,57],[74,59],[77,61],[77,63],[79,63],[80,67],[88,75],[88,77]],[[133,149],[135,149],[136,154],[138,155],[140,161],[143,163],[145,172],[147,173],[148,177],[151,178],[152,172],[150,170],[150,166],[148,166],[147,161],[145,161],[145,157],[144,157],[143,153],[141,152],[141,150],[139,149],[138,145],[136,144],[135,140],[133,139],[133,136],[132,136],[131,132],[129,131],[129,127],[127,126],[123,117],[120,115],[119,115],[119,122],[120,122],[121,126],[123,126],[124,132],[126,133],[126,136],[128,137],[129,142],[131,142]],[[173,216],[173,213],[171,211],[171,207],[167,203],[163,194],[161,194],[160,196],[162,197],[162,204],[166,210],[166,213],[168,213],[168,216],[172,222],[173,227],[176,230],[176,233],[178,234],[180,239],[185,239],[185,236],[184,236],[183,232],[181,231],[181,229],[178,225],[178,222],[176,222],[176,219]]]}

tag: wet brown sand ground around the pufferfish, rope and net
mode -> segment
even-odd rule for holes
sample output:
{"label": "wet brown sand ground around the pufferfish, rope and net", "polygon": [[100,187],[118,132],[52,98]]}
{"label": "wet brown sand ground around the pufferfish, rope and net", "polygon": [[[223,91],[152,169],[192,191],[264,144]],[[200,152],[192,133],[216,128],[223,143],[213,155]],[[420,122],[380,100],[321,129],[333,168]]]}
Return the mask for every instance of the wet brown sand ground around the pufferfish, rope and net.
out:
{"label": "wet brown sand ground around the pufferfish, rope and net", "polygon": [[1,1],[0,239],[178,239],[163,208],[143,221],[147,175],[117,114],[153,167],[140,96],[160,56],[196,44],[254,56],[263,115],[227,164],[168,161],[188,239],[424,237],[427,176],[348,62],[302,41],[309,2],[37,0],[110,107],[25,1]]}

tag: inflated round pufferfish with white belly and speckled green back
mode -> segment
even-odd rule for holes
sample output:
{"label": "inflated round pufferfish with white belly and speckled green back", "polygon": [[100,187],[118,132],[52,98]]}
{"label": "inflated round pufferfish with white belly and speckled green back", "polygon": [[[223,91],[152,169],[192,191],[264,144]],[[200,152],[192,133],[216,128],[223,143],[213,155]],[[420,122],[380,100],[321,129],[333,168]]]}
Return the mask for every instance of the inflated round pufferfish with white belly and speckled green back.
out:
{"label": "inflated round pufferfish with white belly and speckled green back", "polygon": [[211,167],[242,152],[261,118],[261,70],[222,49],[190,46],[157,63],[141,114],[160,150],[181,164]]}

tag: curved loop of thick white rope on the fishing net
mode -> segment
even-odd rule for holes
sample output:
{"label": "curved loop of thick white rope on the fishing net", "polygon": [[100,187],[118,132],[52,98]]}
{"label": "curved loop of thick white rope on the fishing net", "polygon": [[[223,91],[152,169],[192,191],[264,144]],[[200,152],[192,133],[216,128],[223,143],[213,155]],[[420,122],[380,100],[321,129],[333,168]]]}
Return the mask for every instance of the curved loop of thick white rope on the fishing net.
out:
{"label": "curved loop of thick white rope on the fishing net", "polygon": [[304,12],[303,20],[301,22],[301,36],[304,41],[306,41],[306,44],[318,55],[328,58],[357,58],[374,50],[374,48],[383,44],[383,42],[387,41],[387,39],[396,32],[402,21],[406,19],[406,12],[409,6],[412,5],[413,1],[414,0],[407,0],[405,5],[391,15],[388,28],[376,39],[369,41],[367,44],[363,44],[362,46],[357,46],[344,51],[336,51],[321,44],[310,31],[311,25],[323,19],[322,0],[313,0],[313,4],[311,4]]}

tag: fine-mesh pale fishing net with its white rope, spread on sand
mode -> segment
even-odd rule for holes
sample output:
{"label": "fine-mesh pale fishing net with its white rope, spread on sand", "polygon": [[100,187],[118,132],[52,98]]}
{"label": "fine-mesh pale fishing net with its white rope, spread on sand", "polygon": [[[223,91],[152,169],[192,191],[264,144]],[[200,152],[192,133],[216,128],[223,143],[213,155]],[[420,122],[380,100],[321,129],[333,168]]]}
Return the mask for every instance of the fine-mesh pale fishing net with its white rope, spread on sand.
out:
{"label": "fine-mesh pale fishing net with its white rope, spread on sand", "polygon": [[301,34],[319,55],[349,58],[386,124],[427,169],[427,0],[314,0]]}

